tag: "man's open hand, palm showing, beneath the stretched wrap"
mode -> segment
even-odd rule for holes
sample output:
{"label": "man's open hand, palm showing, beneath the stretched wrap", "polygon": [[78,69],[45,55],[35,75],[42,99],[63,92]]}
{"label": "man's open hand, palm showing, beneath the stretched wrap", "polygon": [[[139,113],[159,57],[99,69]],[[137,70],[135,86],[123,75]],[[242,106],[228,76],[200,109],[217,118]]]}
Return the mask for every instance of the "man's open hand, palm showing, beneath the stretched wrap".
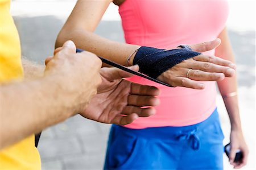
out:
{"label": "man's open hand, palm showing, beneath the stretched wrap", "polygon": [[[138,65],[130,69],[139,70]],[[80,113],[83,117],[102,123],[127,125],[138,117],[155,114],[152,107],[144,106],[159,105],[159,99],[155,97],[159,95],[159,89],[123,80],[133,74],[121,69],[102,68],[100,74],[102,83],[89,106]]]}

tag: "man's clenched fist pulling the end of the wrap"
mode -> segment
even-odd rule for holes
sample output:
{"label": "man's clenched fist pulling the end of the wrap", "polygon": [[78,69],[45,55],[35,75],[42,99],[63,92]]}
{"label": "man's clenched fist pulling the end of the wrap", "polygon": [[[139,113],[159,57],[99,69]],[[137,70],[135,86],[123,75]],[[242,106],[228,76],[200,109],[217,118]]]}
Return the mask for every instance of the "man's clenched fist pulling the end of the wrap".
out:
{"label": "man's clenched fist pulling the end of the wrap", "polygon": [[46,59],[45,76],[56,76],[60,88],[67,94],[63,102],[67,107],[75,108],[73,113],[85,109],[90,99],[97,93],[101,83],[101,60],[90,52],[76,53],[72,41],[55,49],[54,56]]}

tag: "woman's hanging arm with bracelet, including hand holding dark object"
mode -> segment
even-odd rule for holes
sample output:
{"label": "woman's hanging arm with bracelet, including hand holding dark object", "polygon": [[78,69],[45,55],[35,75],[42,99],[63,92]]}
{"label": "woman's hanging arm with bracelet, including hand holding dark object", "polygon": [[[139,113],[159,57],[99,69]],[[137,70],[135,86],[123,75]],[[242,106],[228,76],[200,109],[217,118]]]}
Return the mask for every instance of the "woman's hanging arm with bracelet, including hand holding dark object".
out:
{"label": "woman's hanging arm with bracelet, including hand holding dark object", "polygon": [[[231,44],[228,38],[228,32],[226,28],[219,35],[222,43],[216,48],[216,56],[222,57],[225,60],[235,62],[234,54],[232,51]],[[226,110],[228,111],[230,123],[231,123],[231,134],[230,134],[230,143],[231,143],[231,152],[230,152],[230,163],[234,165],[235,168],[243,167],[247,161],[248,149],[243,138],[240,113],[238,107],[238,98],[237,98],[237,77],[225,78],[222,81],[218,81],[218,88],[224,100]],[[234,163],[234,156],[236,150],[240,149],[243,152],[243,160],[241,163]]]}

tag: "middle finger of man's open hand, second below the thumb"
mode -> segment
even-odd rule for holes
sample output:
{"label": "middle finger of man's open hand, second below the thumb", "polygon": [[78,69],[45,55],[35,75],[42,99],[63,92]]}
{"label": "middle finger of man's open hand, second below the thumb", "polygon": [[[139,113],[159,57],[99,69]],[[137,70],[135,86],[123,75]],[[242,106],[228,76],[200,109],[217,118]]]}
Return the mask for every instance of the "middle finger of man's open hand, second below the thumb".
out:
{"label": "middle finger of man's open hand, second below the thumb", "polygon": [[152,96],[138,96],[138,95],[130,95],[128,97],[128,105],[133,106],[157,106],[159,105],[160,101],[156,97]]}

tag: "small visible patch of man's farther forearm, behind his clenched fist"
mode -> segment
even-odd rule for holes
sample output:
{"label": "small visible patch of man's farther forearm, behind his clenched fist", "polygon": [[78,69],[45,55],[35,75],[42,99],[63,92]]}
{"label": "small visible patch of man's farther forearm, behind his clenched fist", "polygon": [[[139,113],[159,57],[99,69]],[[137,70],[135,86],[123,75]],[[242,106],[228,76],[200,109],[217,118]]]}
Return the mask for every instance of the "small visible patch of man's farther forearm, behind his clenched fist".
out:
{"label": "small visible patch of man's farther forearm, behind his clenched fist", "polygon": [[43,65],[36,64],[35,62],[22,57],[22,67],[24,70],[25,80],[32,80],[35,78],[43,77],[45,68]]}

